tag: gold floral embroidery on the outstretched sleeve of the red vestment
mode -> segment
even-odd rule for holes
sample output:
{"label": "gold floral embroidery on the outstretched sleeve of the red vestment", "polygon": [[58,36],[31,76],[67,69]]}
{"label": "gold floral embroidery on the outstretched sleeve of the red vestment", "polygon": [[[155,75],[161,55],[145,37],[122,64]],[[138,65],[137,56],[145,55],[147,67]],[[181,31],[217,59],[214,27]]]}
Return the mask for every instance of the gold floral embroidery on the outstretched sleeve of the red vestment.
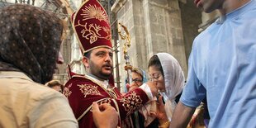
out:
{"label": "gold floral embroidery on the outstretched sleeve of the red vestment", "polygon": [[136,92],[131,92],[130,96],[123,98],[121,102],[123,102],[122,106],[125,107],[125,110],[128,111],[127,115],[142,105],[142,100],[139,95],[136,95]]}

